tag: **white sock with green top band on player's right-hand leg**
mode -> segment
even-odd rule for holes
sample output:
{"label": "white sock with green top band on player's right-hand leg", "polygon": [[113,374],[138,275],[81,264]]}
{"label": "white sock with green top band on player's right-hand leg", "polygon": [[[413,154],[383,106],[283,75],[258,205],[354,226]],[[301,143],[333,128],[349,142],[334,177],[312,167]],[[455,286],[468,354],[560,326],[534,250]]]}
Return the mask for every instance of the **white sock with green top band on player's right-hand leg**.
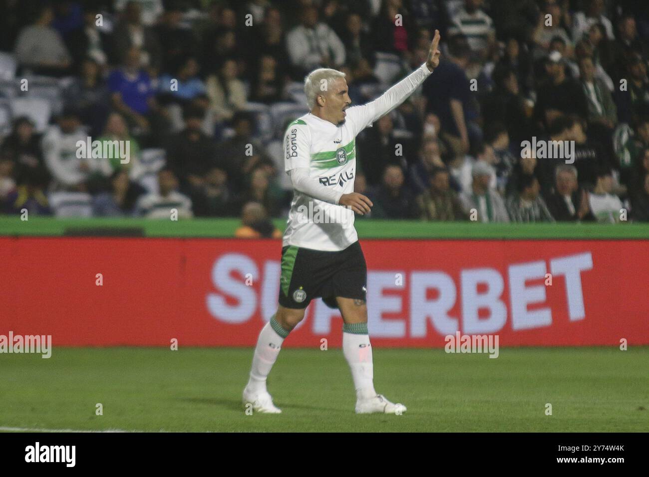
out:
{"label": "white sock with green top band on player's right-hand leg", "polygon": [[356,398],[365,399],[376,396],[376,391],[374,391],[374,364],[372,361],[372,347],[367,334],[367,323],[359,324],[365,326],[365,334],[347,332],[350,328],[359,328],[356,324],[345,324],[345,327],[343,327],[343,354],[347,363],[349,363],[349,369],[352,371]]}

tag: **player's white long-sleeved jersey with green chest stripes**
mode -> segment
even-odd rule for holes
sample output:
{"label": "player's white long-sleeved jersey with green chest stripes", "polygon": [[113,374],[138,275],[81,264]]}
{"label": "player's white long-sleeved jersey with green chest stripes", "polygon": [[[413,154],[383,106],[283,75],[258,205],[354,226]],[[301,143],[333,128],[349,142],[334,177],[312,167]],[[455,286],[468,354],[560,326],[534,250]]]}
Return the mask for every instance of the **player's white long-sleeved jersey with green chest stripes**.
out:
{"label": "player's white long-sleeved jersey with green chest stripes", "polygon": [[[430,70],[423,64],[378,99],[348,108],[345,122],[340,125],[311,113],[293,121],[284,136],[286,172],[304,167],[323,187],[352,193],[356,177],[356,135],[401,104],[428,75]],[[282,246],[341,251],[357,240],[352,210],[294,191]]]}

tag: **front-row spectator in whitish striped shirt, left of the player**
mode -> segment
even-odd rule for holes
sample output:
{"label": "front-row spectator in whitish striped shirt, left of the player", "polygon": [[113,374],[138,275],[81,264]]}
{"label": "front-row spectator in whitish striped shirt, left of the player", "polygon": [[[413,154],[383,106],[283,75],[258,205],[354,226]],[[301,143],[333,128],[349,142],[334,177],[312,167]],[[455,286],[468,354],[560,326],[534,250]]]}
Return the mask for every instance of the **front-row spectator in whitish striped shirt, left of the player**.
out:
{"label": "front-row spectator in whitish striped shirt, left of the player", "polygon": [[189,219],[191,199],[177,191],[178,179],[167,167],[158,171],[158,193],[148,193],[136,202],[135,215],[147,219]]}

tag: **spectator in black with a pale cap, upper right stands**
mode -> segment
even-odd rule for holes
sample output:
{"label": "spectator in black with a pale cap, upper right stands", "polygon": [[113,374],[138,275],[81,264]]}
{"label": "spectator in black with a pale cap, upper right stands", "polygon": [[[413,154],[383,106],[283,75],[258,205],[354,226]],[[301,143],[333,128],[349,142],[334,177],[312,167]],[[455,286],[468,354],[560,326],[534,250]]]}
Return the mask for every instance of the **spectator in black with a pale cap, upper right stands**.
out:
{"label": "spectator in black with a pale cap, upper right stands", "polygon": [[547,125],[561,114],[588,117],[588,103],[578,82],[567,77],[563,56],[552,51],[547,56],[545,71],[548,80],[539,86],[534,106],[535,121]]}

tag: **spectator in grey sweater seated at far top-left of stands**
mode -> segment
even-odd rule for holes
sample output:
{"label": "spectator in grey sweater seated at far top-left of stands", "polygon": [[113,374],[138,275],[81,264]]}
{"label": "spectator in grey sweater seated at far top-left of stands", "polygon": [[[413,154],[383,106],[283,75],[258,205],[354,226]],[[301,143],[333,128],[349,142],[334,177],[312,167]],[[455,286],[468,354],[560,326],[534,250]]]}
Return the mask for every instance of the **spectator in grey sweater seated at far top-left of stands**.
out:
{"label": "spectator in grey sweater seated at far top-left of stands", "polygon": [[51,6],[40,5],[32,25],[21,29],[16,42],[16,59],[23,71],[60,77],[69,72],[72,57],[58,31],[50,25]]}

